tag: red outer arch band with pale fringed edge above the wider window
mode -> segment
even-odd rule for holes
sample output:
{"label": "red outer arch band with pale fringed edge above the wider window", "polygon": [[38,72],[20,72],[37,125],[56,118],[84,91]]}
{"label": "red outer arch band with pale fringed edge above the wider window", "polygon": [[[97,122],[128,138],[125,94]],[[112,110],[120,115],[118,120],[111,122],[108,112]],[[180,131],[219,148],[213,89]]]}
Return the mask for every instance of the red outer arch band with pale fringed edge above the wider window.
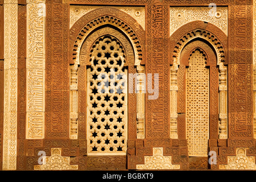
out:
{"label": "red outer arch band with pale fringed edge above the wider window", "polygon": [[[117,18],[118,17],[118,18]],[[145,32],[130,15],[113,7],[90,11],[82,16],[70,30],[70,64],[77,62],[80,48],[86,37],[96,28],[106,25],[117,27],[129,38],[135,52],[135,65],[144,64]]]}

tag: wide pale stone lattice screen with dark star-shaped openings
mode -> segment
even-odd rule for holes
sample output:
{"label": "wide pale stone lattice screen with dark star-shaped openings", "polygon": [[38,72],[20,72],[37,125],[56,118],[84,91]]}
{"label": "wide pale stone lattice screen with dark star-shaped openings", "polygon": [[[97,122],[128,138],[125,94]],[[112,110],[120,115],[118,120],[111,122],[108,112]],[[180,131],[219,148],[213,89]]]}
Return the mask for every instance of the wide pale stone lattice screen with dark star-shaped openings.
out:
{"label": "wide pale stone lattice screen with dark star-shaped openings", "polygon": [[88,68],[88,154],[126,155],[125,51],[112,36],[99,38]]}

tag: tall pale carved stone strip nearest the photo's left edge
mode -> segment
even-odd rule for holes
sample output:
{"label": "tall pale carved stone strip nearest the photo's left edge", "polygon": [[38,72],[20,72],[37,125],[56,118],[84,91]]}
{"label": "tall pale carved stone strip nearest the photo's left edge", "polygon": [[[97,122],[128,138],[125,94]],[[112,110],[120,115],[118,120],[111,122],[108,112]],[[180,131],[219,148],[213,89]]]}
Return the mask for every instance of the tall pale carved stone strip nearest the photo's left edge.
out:
{"label": "tall pale carved stone strip nearest the photo's left edge", "polygon": [[17,147],[17,65],[18,65],[18,4],[4,3],[4,121],[3,170],[16,169]]}

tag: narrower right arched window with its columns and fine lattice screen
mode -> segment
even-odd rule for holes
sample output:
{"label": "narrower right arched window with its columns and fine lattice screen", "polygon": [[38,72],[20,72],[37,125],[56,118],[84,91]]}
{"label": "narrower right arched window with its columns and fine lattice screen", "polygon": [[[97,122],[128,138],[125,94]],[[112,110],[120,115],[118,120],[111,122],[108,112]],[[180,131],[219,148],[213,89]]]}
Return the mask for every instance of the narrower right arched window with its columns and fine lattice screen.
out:
{"label": "narrower right arched window with its columns and fine lattice screen", "polygon": [[225,48],[200,28],[172,36],[180,39],[171,37],[170,137],[187,139],[189,156],[207,157],[209,139],[228,137]]}

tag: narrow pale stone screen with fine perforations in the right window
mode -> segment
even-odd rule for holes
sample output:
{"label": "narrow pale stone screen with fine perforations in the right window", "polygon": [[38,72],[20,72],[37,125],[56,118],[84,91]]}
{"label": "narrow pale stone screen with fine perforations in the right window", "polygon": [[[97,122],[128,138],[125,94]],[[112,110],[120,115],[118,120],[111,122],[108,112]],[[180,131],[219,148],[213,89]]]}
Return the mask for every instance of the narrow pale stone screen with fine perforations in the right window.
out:
{"label": "narrow pale stone screen with fine perforations in the right window", "polygon": [[209,138],[209,69],[198,49],[189,58],[186,79],[186,123],[189,156],[207,156]]}

